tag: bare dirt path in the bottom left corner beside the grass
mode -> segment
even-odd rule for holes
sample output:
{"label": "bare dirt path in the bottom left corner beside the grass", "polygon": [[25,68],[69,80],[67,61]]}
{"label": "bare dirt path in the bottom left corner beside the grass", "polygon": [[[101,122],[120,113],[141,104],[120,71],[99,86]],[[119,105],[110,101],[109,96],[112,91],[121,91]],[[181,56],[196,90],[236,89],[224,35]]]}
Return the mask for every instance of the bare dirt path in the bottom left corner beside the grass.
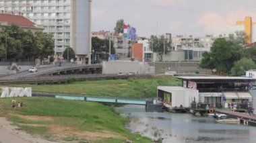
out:
{"label": "bare dirt path in the bottom left corner beside the grass", "polygon": [[[36,138],[26,132],[19,130],[17,126],[12,126],[5,117],[0,117],[0,143],[54,143],[41,138]],[[57,142],[56,142],[57,143]]]}

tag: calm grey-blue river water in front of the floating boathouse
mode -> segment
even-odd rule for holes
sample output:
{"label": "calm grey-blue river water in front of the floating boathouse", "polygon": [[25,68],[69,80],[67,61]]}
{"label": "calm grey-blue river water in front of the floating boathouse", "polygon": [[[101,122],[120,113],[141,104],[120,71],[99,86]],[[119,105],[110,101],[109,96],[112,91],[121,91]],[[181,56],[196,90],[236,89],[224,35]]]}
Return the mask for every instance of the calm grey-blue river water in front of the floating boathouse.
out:
{"label": "calm grey-blue river water in front of the floating boathouse", "polygon": [[220,124],[210,117],[190,113],[146,112],[141,105],[118,107],[121,115],[131,117],[128,128],[142,136],[162,142],[256,142],[256,127]]}

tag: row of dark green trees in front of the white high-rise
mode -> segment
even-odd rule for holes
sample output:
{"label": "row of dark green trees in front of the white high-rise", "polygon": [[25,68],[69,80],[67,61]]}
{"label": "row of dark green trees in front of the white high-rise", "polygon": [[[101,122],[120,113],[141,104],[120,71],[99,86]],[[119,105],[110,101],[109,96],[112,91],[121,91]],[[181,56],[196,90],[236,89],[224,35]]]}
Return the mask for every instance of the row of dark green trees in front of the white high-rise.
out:
{"label": "row of dark green trees in front of the white high-rise", "polygon": [[54,55],[54,40],[51,34],[25,31],[12,25],[0,32],[0,61],[34,61]]}

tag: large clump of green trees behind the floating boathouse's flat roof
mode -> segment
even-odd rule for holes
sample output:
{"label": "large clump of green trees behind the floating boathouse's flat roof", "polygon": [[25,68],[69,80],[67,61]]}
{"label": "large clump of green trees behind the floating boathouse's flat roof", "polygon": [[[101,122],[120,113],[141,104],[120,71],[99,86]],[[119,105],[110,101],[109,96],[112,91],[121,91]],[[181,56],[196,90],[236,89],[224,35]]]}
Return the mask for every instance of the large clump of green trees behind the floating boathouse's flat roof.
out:
{"label": "large clump of green trees behind the floating boathouse's flat roof", "polygon": [[245,48],[247,37],[236,33],[236,37],[218,38],[211,52],[204,52],[199,66],[213,72],[233,76],[245,75],[245,71],[256,68],[256,48]]}

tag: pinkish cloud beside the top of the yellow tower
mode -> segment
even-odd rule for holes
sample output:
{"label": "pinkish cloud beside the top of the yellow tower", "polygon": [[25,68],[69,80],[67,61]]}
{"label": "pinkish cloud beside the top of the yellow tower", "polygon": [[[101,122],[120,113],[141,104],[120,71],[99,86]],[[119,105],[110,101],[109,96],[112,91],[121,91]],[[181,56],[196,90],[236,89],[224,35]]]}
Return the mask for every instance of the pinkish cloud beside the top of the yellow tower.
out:
{"label": "pinkish cloud beside the top of the yellow tower", "polygon": [[199,26],[203,26],[206,32],[214,32],[218,27],[234,25],[236,21],[243,21],[247,16],[256,18],[256,11],[238,8],[234,11],[227,11],[226,13],[204,13],[199,17],[198,24]]}

